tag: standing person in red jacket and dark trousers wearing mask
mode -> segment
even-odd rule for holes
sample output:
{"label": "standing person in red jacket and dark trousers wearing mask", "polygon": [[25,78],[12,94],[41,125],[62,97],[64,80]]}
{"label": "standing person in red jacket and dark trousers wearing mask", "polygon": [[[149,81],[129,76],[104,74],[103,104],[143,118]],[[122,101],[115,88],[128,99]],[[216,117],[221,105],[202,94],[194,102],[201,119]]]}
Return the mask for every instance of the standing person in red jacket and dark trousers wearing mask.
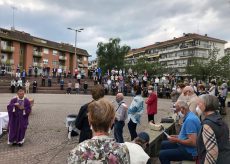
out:
{"label": "standing person in red jacket and dark trousers wearing mask", "polygon": [[157,94],[152,85],[148,86],[149,97],[146,99],[148,121],[155,124],[154,115],[157,114]]}

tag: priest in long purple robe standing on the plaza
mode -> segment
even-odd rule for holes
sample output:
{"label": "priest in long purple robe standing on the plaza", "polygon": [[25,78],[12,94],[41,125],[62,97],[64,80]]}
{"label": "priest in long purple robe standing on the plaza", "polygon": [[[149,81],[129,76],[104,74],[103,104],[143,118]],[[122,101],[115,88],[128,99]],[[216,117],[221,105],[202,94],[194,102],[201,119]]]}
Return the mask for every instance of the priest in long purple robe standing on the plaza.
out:
{"label": "priest in long purple robe standing on the plaza", "polygon": [[31,112],[30,101],[24,96],[24,90],[19,89],[17,97],[13,98],[7,106],[9,115],[8,144],[22,146]]}

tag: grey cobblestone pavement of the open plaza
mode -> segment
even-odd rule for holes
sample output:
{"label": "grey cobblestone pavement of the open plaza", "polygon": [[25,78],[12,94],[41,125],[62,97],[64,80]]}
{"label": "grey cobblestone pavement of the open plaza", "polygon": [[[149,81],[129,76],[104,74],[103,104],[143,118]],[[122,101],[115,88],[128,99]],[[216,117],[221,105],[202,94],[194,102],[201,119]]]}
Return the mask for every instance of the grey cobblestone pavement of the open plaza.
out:
{"label": "grey cobblestone pavement of the open plaza", "polygon": [[[0,111],[6,111],[6,106],[14,94],[0,94]],[[62,164],[66,163],[69,151],[78,143],[78,137],[72,140],[67,138],[65,119],[69,114],[77,114],[80,106],[91,101],[90,95],[63,95],[63,94],[30,94],[35,104],[30,115],[26,140],[23,147],[7,145],[7,135],[0,138],[1,164]],[[114,100],[115,96],[106,96]],[[125,97],[130,105],[132,97]],[[158,114],[156,122],[161,117],[170,114],[171,101],[158,100]],[[146,109],[146,107],[145,107]],[[147,128],[147,114],[143,114],[138,131]],[[127,124],[124,128],[124,138],[130,141]],[[156,160],[156,159],[155,159]],[[158,161],[155,161],[158,163]]]}

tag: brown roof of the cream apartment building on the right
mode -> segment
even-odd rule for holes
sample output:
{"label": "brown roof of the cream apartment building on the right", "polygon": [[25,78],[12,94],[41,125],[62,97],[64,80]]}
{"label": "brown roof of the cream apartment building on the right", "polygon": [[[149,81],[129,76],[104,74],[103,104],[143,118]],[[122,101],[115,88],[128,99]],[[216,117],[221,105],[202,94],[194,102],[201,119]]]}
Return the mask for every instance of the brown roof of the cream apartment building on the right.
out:
{"label": "brown roof of the cream apartment building on the right", "polygon": [[176,43],[181,43],[181,42],[193,40],[193,39],[214,41],[214,42],[223,43],[223,44],[227,43],[225,40],[212,38],[212,37],[207,36],[206,34],[205,35],[199,35],[199,34],[195,34],[195,33],[188,33],[188,34],[184,34],[184,36],[179,37],[179,38],[173,38],[171,40],[167,40],[164,42],[156,42],[155,44],[151,44],[151,45],[141,47],[138,49],[132,49],[131,53],[134,54],[134,53],[138,53],[138,52],[145,51],[145,50],[152,49],[152,48],[163,48],[163,47],[166,47],[169,45],[173,45]]}

